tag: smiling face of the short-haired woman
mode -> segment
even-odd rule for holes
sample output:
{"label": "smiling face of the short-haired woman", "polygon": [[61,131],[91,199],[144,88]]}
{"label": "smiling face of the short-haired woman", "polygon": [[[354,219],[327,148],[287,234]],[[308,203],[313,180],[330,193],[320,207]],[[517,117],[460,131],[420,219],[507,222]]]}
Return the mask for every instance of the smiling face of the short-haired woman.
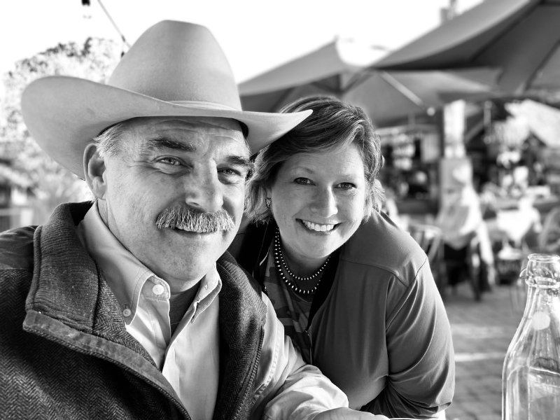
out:
{"label": "smiling face of the short-haired woman", "polygon": [[267,197],[292,262],[324,260],[356,232],[366,182],[358,148],[298,153],[283,162]]}

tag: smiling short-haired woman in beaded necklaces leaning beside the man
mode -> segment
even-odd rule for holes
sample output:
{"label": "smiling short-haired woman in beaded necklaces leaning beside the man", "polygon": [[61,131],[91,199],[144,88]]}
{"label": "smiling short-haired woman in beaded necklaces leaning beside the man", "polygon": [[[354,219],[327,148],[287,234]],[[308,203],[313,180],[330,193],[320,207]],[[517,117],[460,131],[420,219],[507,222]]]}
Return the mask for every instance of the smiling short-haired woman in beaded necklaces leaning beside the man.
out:
{"label": "smiling short-haired woman in beaded necklaces leaning beside the man", "polygon": [[379,137],[361,109],[337,99],[300,99],[283,112],[304,109],[311,116],[255,160],[253,223],[237,259],[350,407],[437,416],[454,391],[449,322],[426,254],[377,210]]}

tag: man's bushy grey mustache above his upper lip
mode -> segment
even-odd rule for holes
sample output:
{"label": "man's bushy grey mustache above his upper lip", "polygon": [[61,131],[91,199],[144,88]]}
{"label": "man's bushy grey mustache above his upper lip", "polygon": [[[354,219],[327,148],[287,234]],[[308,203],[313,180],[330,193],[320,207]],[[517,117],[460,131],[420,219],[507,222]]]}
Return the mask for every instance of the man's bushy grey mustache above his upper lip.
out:
{"label": "man's bushy grey mustache above his upper lip", "polygon": [[172,228],[189,232],[221,232],[235,229],[230,214],[221,209],[216,213],[203,213],[190,207],[169,207],[162,211],[155,222],[158,229]]}

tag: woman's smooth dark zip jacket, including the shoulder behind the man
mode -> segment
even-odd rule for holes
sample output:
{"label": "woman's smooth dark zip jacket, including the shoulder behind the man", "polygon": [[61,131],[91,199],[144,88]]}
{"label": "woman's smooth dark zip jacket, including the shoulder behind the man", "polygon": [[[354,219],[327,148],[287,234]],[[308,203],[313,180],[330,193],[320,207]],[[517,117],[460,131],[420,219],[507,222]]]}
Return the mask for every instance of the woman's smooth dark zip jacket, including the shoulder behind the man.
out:
{"label": "woman's smooth dark zip jacket, including the shoulder behind the man", "polygon": [[[274,221],[249,225],[230,247],[261,282],[275,230]],[[453,398],[455,365],[426,254],[375,212],[331,259],[311,304],[308,361],[348,395],[351,408],[436,416]]]}

